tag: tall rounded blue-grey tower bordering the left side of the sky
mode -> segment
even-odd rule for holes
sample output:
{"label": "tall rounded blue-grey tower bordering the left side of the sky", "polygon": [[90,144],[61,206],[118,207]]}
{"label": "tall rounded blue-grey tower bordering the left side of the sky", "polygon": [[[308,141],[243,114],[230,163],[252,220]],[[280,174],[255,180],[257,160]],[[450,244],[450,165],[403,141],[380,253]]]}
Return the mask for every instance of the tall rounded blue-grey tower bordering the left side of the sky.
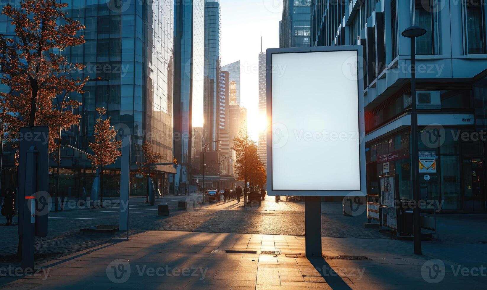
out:
{"label": "tall rounded blue-grey tower bordering the left side of the sky", "polygon": [[[204,125],[205,144],[218,139],[219,77],[222,70],[222,10],[219,0],[205,0]],[[208,146],[218,149],[216,143]]]}

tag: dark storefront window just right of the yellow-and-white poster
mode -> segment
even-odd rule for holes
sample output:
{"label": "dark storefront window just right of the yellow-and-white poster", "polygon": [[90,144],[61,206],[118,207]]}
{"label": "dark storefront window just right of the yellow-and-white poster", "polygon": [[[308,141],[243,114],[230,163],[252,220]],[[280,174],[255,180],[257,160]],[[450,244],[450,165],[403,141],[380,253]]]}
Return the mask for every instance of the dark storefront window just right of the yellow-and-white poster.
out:
{"label": "dark storefront window just right of the yellow-and-white poster", "polygon": [[460,205],[460,158],[441,156],[441,194],[443,210],[459,210]]}

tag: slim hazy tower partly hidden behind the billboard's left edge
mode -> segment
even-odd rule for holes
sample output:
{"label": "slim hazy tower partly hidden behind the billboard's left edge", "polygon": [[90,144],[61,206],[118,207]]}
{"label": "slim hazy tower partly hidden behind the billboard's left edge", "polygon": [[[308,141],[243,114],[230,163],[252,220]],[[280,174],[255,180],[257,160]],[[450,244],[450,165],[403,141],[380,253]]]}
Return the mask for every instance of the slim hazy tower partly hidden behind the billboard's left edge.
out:
{"label": "slim hazy tower partly hidden behind the billboard's left edge", "polygon": [[[259,119],[264,119],[267,124],[267,70],[266,70],[266,53],[262,52],[259,54]],[[259,157],[262,163],[267,168],[267,126],[261,128],[259,132]]]}

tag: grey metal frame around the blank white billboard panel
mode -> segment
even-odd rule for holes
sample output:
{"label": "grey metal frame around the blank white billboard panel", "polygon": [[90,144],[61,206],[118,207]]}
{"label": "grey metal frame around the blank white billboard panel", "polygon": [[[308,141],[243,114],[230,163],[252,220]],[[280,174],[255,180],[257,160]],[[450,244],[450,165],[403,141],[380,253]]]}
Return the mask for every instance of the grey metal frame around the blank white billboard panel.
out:
{"label": "grey metal frame around the blank white billboard panel", "polygon": [[[358,98],[358,130],[359,130],[359,156],[360,156],[360,190],[274,190],[272,182],[272,55],[291,53],[314,52],[341,52],[356,51],[357,53],[357,98]],[[342,72],[340,72],[342,73]],[[366,196],[367,178],[365,166],[365,116],[364,116],[364,58],[361,45],[320,46],[320,47],[296,47],[296,48],[272,48],[266,51],[266,90],[267,90],[267,119],[270,126],[267,127],[267,194],[268,195],[298,195],[298,196]],[[296,168],[299,168],[297,166]],[[297,169],[298,170],[298,169]],[[306,170],[306,169],[300,169]],[[344,173],[345,174],[345,173]]]}

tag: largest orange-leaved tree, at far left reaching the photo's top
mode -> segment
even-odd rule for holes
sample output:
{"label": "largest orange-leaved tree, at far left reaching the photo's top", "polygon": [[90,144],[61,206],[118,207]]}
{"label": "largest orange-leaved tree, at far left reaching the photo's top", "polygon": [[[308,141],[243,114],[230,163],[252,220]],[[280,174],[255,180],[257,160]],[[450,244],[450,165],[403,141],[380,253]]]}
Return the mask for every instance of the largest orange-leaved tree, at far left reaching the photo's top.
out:
{"label": "largest orange-leaved tree, at far left reaching the photo's top", "polygon": [[[79,115],[64,110],[61,116],[56,97],[71,92],[82,94],[88,78],[71,77],[84,65],[70,63],[57,54],[67,47],[85,42],[76,32],[85,27],[77,20],[66,17],[61,9],[66,3],[55,0],[24,0],[19,7],[7,4],[2,13],[15,26],[15,39],[0,35],[0,82],[11,88],[0,93],[4,104],[6,141],[17,147],[17,135],[23,126],[49,126],[49,148],[53,153],[60,120],[61,130],[79,124]],[[62,23],[61,25],[59,23]],[[68,101],[66,108],[76,108],[77,101]]]}

